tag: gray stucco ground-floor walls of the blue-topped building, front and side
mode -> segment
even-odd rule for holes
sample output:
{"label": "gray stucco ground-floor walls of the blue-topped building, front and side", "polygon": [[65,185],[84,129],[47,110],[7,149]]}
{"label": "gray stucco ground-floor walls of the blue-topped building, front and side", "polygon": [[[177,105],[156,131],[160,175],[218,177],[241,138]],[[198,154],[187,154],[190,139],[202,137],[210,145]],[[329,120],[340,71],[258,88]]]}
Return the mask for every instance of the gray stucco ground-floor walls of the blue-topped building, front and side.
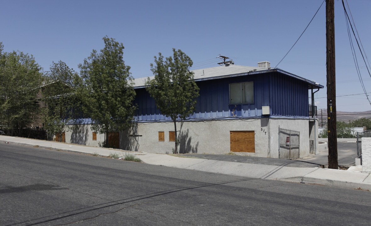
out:
{"label": "gray stucco ground-floor walls of the blue-topped building, front and side", "polygon": [[[300,157],[309,155],[309,120],[287,118],[257,118],[229,120],[177,122],[180,153],[225,154],[230,152],[230,131],[255,132],[255,153],[238,152],[247,156],[279,157],[278,130],[280,128],[300,132]],[[180,130],[181,129],[181,130]],[[169,132],[174,131],[173,122],[133,123],[121,131],[120,149],[149,153],[172,153],[175,143],[169,141]],[[180,131],[180,132],[179,132]],[[158,132],[164,132],[165,141],[158,141]],[[318,134],[318,131],[313,131]],[[98,146],[104,134],[92,140],[91,125],[81,125],[66,131],[66,142]]]}

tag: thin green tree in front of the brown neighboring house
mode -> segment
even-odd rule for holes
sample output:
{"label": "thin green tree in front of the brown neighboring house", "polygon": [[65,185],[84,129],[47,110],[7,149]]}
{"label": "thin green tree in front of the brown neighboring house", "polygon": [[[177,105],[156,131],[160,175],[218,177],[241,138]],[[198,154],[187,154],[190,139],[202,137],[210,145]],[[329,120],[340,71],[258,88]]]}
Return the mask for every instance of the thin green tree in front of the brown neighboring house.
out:
{"label": "thin green tree in front of the brown neighboring house", "polygon": [[47,131],[48,140],[51,140],[54,134],[59,134],[58,141],[62,142],[62,133],[72,129],[69,125],[78,124],[81,102],[76,92],[80,87],[81,78],[66,63],[59,61],[53,62],[50,71],[45,73],[44,83],[44,129]]}

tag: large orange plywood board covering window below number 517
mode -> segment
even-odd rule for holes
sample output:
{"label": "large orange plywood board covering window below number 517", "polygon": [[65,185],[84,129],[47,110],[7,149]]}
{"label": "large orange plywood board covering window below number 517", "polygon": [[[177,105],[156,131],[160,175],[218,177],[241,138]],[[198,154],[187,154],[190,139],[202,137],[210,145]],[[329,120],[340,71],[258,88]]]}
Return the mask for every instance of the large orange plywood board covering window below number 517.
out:
{"label": "large orange plywood board covering window below number 517", "polygon": [[230,131],[230,151],[255,153],[255,132]]}

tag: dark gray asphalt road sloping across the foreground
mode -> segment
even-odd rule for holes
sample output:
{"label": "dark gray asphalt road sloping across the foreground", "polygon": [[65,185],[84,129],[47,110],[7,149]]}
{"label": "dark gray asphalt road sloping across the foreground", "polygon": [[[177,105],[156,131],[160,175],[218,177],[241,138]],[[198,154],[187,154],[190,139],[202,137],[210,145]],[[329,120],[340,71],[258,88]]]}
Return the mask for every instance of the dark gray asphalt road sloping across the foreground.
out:
{"label": "dark gray asphalt road sloping across the foreground", "polygon": [[0,144],[0,225],[370,225],[371,192]]}

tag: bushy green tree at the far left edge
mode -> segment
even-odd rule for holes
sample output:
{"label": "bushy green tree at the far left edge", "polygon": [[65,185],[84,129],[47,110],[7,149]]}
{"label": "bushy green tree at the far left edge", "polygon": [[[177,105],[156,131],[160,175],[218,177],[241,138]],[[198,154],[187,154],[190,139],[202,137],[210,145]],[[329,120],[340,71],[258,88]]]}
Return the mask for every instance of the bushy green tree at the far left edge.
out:
{"label": "bushy green tree at the far left edge", "polygon": [[39,116],[37,87],[41,82],[40,66],[32,55],[3,52],[0,42],[0,127],[8,135],[23,136]]}

